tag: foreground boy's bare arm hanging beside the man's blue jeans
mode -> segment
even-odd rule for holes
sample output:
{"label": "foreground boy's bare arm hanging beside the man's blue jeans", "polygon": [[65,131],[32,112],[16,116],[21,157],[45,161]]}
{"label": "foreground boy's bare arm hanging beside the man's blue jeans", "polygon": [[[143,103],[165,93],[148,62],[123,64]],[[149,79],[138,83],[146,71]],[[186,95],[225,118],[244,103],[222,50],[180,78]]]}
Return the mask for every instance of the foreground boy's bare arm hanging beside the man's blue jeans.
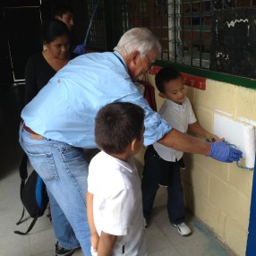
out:
{"label": "foreground boy's bare arm hanging beside the man's blue jeans", "polygon": [[97,252],[98,248],[98,233],[94,224],[93,219],[93,194],[90,192],[86,193],[86,203],[87,203],[87,218],[90,226],[90,243],[94,252]]}

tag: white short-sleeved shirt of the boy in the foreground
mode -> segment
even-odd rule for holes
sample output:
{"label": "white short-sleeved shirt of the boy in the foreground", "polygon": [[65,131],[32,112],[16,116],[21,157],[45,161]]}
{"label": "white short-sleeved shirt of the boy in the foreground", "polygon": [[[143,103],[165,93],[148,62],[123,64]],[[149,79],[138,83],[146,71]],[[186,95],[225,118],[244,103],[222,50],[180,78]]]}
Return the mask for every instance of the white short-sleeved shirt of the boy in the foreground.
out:
{"label": "white short-sleeved shirt of the boy in the foreground", "polygon": [[132,158],[124,162],[99,152],[90,161],[88,191],[98,235],[118,236],[111,255],[147,255],[141,181]]}

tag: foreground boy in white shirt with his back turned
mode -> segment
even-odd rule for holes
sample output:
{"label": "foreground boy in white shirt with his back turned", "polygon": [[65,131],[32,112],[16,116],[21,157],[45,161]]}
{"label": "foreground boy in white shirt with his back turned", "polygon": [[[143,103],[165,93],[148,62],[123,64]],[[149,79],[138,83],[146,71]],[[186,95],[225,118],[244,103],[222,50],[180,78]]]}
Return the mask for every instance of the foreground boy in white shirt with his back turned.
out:
{"label": "foreground boy in white shirt with his back turned", "polygon": [[99,152],[90,161],[87,214],[93,255],[145,256],[141,181],[132,156],[143,144],[144,111],[128,102],[98,111]]}

